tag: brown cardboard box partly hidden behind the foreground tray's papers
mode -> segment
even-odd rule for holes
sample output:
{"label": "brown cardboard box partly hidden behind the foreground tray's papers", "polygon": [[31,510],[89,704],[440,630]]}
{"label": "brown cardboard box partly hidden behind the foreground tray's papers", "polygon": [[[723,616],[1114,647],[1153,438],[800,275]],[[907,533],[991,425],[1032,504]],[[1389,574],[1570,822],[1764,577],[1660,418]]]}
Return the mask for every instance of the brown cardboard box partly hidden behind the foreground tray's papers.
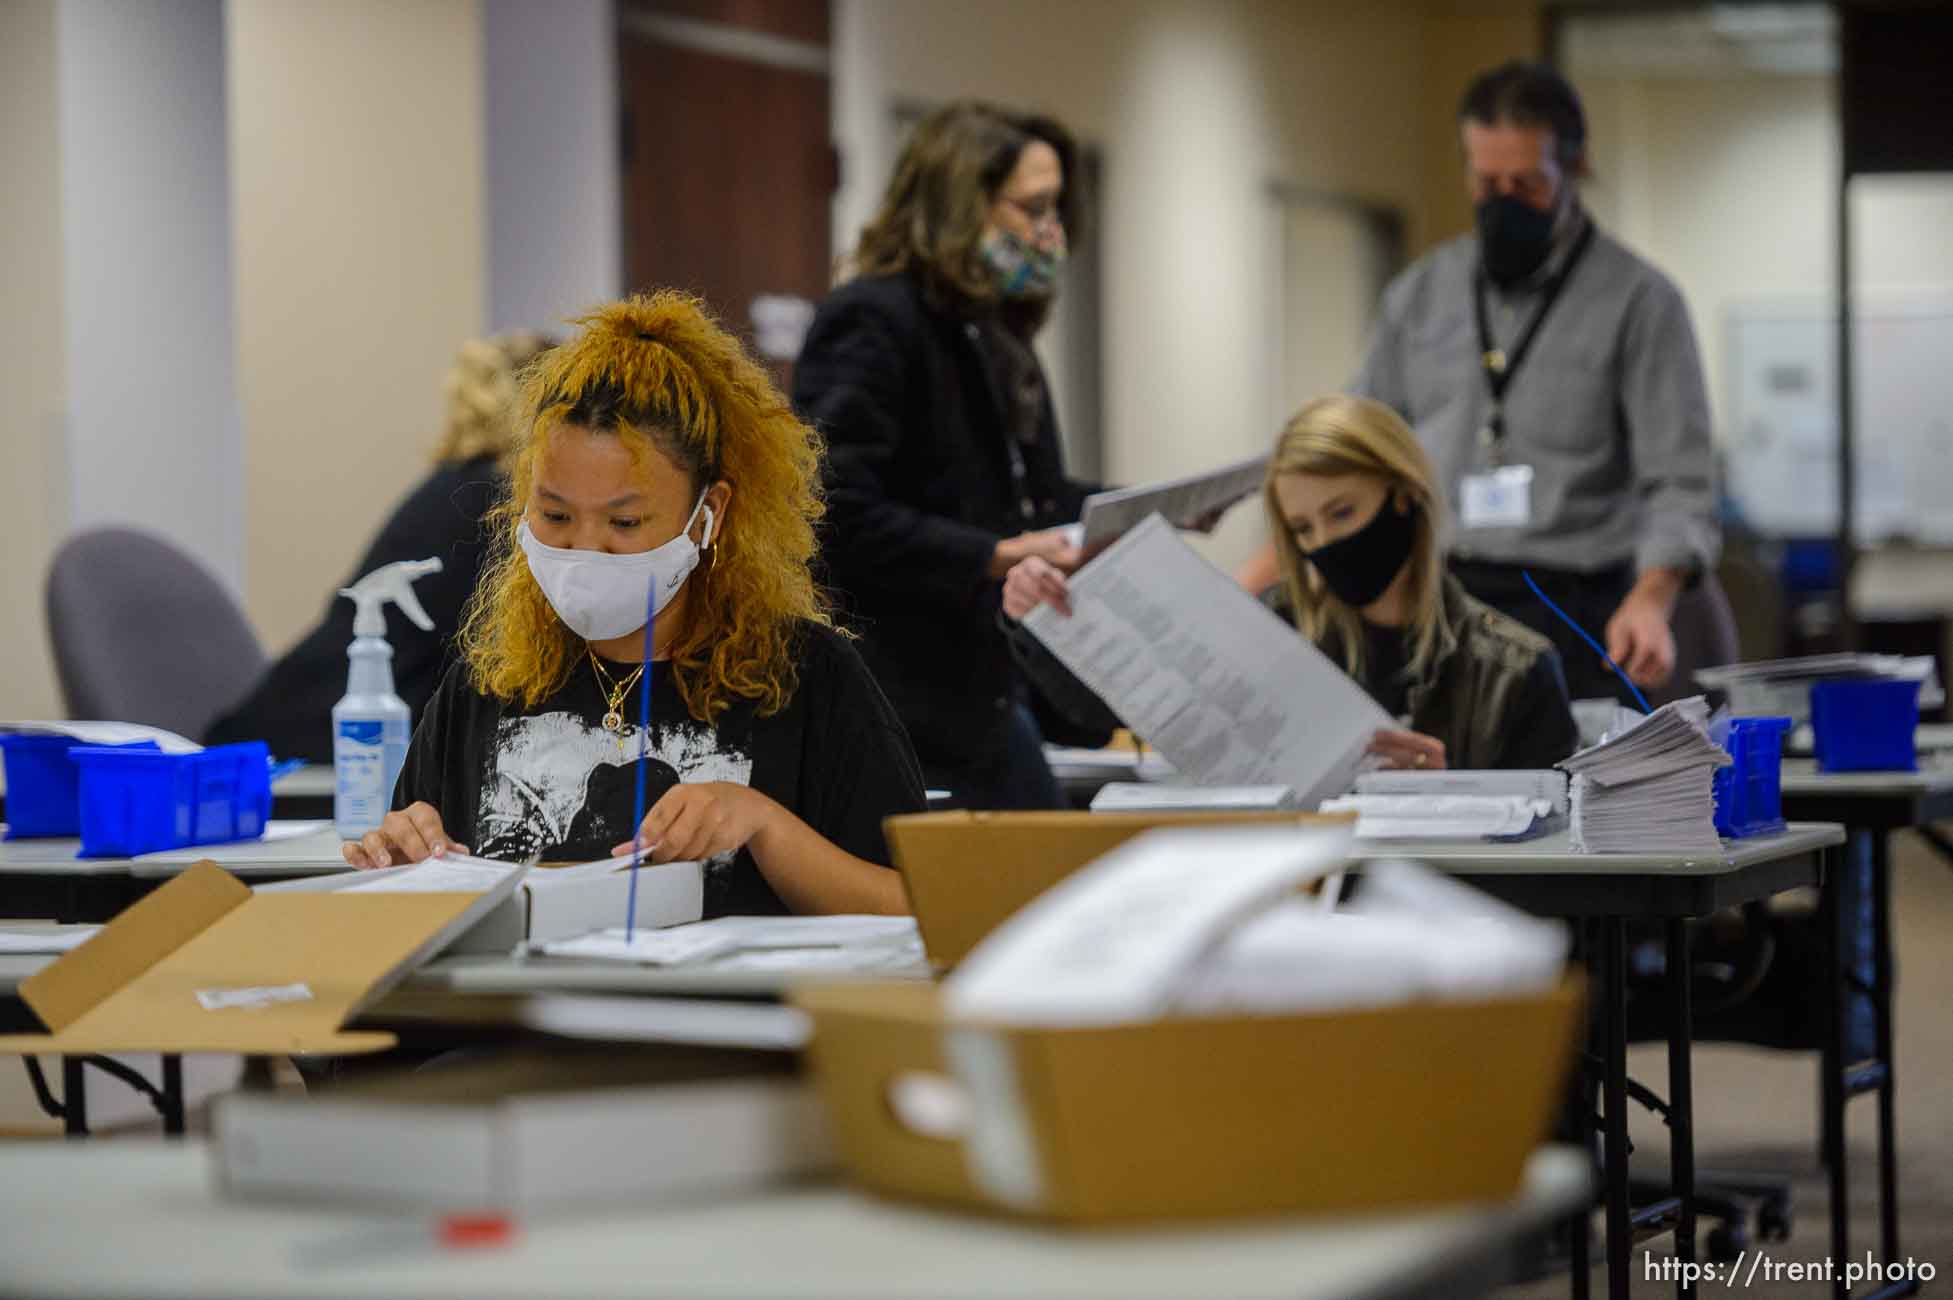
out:
{"label": "brown cardboard box partly hidden behind the foreground tray's papers", "polygon": [[1148,830],[1348,820],[1309,812],[918,812],[885,820],[883,832],[922,947],[947,968],[1053,884]]}

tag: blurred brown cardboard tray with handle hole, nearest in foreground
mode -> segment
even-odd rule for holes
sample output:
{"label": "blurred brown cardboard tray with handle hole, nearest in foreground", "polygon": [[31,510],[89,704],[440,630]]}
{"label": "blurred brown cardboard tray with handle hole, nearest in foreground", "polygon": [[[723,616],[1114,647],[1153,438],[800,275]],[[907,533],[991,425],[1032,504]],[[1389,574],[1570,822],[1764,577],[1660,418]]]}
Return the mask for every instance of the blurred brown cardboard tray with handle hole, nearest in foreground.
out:
{"label": "blurred brown cardboard tray with handle hole, nearest in foreground", "polygon": [[1064,1224],[1510,1197],[1562,1097],[1582,984],[1473,1003],[953,1023],[930,986],[797,990],[865,1187]]}

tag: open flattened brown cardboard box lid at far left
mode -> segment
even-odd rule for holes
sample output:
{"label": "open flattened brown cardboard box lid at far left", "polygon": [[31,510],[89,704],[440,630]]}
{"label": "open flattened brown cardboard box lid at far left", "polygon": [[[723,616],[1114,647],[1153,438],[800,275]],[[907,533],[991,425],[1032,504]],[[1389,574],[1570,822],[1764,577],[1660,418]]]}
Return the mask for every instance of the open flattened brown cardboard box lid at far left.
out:
{"label": "open flattened brown cardboard box lid at far left", "polygon": [[346,1025],[516,888],[477,894],[258,892],[197,863],[21,980],[49,1029],[29,1052],[379,1052]]}

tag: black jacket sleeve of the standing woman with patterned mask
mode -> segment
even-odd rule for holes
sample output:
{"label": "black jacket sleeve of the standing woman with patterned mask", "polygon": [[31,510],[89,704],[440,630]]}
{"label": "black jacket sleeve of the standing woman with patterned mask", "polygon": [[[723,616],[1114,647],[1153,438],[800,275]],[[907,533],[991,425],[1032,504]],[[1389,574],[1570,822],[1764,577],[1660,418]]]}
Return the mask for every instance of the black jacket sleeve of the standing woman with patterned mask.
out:
{"label": "black jacket sleeve of the standing woman with patterned mask", "polygon": [[[875,572],[918,601],[957,611],[988,582],[998,535],[902,500],[900,453],[920,427],[922,377],[914,334],[883,305],[846,291],[822,305],[793,365],[795,408],[828,443],[830,560]],[[904,340],[904,332],[910,334]]]}

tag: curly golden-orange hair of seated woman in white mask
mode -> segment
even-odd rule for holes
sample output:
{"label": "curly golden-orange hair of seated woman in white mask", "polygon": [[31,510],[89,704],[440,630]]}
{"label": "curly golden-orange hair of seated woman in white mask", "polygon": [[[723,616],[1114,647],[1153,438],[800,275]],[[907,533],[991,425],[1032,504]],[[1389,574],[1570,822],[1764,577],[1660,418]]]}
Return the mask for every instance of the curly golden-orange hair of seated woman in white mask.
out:
{"label": "curly golden-orange hair of seated woman in white mask", "polygon": [[711,560],[687,578],[691,619],[672,644],[672,679],[701,722],[734,699],[779,712],[797,685],[801,627],[830,623],[809,568],[824,513],[820,435],[695,297],[666,289],[572,324],[582,332],[523,377],[510,494],[488,515],[490,558],[461,625],[469,679],[484,695],[533,707],[568,681],[584,652],[516,541],[549,435],[574,426],[613,433],[633,461],[660,451],[693,488],[732,484]]}

